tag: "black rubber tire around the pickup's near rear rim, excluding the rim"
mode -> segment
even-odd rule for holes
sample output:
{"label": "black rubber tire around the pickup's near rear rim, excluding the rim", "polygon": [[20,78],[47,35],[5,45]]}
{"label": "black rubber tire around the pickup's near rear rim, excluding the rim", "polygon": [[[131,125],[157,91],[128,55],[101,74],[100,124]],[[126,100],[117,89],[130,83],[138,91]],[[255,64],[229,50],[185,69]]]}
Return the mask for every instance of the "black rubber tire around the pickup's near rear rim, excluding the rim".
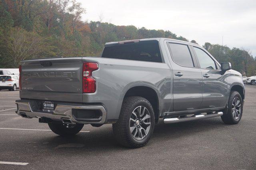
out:
{"label": "black rubber tire around the pickup's near rear rim, excluding the rim", "polygon": [[[132,116],[132,112],[134,111],[134,109],[140,106],[148,110],[146,114],[150,115],[150,118],[148,118],[148,121],[150,121],[150,125],[149,125],[150,128],[147,134],[144,133],[144,138],[137,140],[134,136],[132,136],[132,132],[130,131],[130,125],[131,125],[130,118]],[[143,119],[144,118],[142,118],[142,120]],[[137,129],[141,128],[140,131],[142,131],[142,125],[141,127],[138,126]],[[137,125],[134,124],[134,126],[137,126]],[[152,105],[149,103],[147,99],[143,97],[134,96],[134,97],[126,97],[124,99],[118,122],[114,123],[112,125],[112,128],[113,128],[114,136],[119,144],[128,148],[139,148],[148,143],[154,131],[154,126],[155,126],[155,117],[154,117],[154,110],[152,108]]]}

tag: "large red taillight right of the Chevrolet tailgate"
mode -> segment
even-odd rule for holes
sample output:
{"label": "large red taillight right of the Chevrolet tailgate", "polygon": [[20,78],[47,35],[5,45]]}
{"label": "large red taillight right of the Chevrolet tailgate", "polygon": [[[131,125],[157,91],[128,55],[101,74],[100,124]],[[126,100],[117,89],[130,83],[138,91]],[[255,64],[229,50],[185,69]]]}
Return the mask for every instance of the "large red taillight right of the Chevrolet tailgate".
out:
{"label": "large red taillight right of the Chevrolet tailgate", "polygon": [[92,71],[98,68],[97,63],[83,63],[83,93],[94,93],[96,91],[96,79],[92,77]]}

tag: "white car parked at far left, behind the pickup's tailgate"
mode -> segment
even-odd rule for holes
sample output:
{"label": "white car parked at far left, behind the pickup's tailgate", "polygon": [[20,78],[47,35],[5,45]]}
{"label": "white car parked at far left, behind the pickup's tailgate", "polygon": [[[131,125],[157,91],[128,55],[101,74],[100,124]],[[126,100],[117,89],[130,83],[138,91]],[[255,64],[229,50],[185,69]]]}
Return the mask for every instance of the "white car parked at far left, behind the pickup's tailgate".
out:
{"label": "white car parked at far left, behind the pickup's tailgate", "polygon": [[9,91],[16,91],[18,87],[18,75],[0,75],[0,90],[8,89]]}

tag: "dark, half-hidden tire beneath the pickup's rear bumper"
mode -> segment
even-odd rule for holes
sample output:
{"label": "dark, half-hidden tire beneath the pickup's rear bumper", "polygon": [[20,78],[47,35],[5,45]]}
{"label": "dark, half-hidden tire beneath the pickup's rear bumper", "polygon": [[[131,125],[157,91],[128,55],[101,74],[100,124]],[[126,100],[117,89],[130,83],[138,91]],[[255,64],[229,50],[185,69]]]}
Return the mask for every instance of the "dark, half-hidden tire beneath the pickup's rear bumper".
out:
{"label": "dark, half-hidden tire beneath the pickup's rear bumper", "polygon": [[72,136],[80,132],[80,130],[84,127],[84,124],[76,124],[73,127],[67,127],[63,123],[48,123],[48,126],[52,130],[52,132],[60,135],[60,136]]}

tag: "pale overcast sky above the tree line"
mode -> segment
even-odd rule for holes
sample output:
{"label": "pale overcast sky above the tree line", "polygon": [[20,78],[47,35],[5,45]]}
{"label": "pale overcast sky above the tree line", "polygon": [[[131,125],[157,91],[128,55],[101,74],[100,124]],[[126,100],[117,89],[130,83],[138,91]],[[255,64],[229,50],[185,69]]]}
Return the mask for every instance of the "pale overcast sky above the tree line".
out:
{"label": "pale overcast sky above the tree line", "polygon": [[256,0],[78,0],[83,20],[170,30],[188,40],[244,47],[256,56]]}

